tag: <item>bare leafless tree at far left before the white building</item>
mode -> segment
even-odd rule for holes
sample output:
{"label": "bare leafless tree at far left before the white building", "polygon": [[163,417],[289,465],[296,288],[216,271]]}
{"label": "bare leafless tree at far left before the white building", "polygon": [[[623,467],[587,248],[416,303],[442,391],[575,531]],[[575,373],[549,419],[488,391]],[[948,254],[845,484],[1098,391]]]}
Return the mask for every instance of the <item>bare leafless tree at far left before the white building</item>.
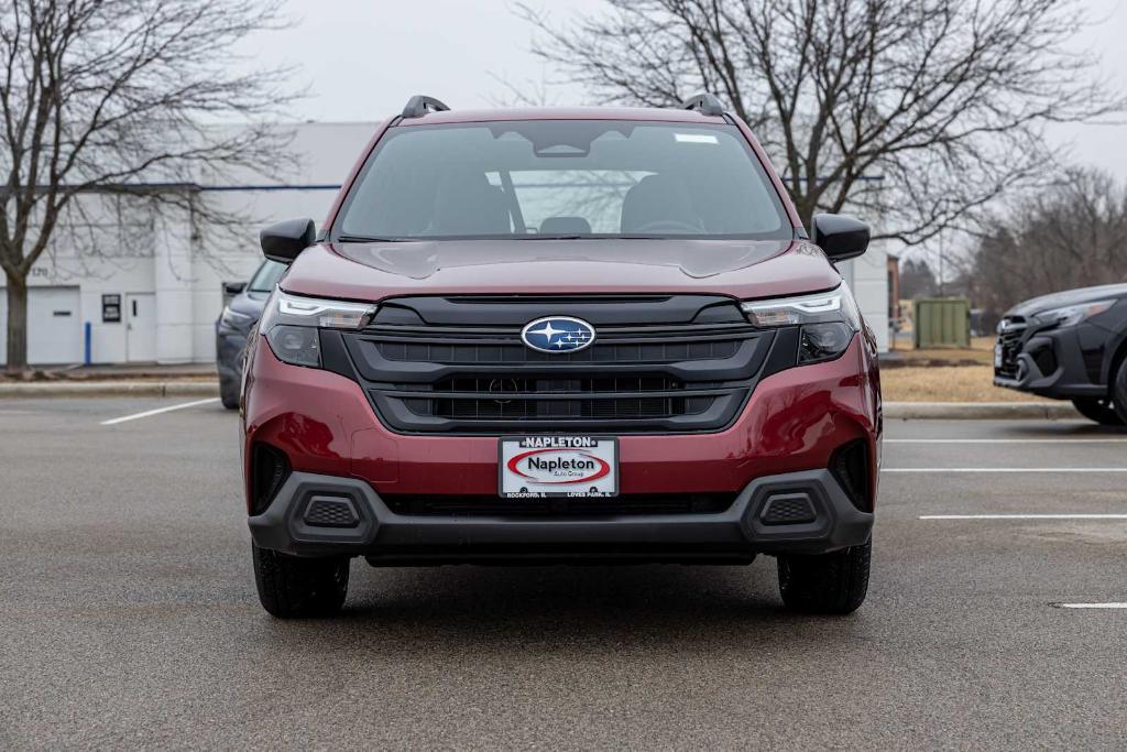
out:
{"label": "bare leafless tree at far left before the white building", "polygon": [[[88,196],[130,196],[197,224],[237,221],[190,189],[260,170],[287,135],[286,70],[236,52],[279,0],[8,0],[0,8],[0,267],[8,370],[27,363],[27,278]],[[237,125],[236,125],[237,124]],[[154,186],[160,189],[154,189]]]}

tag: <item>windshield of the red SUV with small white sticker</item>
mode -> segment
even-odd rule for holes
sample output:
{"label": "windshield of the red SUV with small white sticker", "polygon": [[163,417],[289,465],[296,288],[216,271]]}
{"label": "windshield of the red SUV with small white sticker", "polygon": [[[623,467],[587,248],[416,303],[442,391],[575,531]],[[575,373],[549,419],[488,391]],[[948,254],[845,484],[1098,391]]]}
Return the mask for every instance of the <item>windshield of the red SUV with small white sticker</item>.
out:
{"label": "windshield of the red SUV with small white sticker", "polygon": [[332,237],[790,238],[731,125],[518,121],[394,127]]}

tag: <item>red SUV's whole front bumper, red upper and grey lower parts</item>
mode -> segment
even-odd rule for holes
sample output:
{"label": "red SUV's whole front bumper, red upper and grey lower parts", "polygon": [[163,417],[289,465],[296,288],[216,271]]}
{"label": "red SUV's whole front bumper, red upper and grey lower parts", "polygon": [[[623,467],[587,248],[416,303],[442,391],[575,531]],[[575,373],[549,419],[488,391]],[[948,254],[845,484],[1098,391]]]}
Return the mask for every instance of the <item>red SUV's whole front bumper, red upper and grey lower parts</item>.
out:
{"label": "red SUV's whole front bumper, red upper and grey lower parts", "polygon": [[[619,493],[725,494],[724,511],[551,517],[402,513],[396,498],[494,497],[497,437],[397,434],[355,381],[286,365],[257,337],[248,350],[242,416],[248,511],[256,542],[307,556],[363,555],[375,563],[611,558],[747,560],[756,552],[825,552],[862,543],[872,527],[880,455],[876,359],[859,336],[835,361],[762,379],[728,428],[619,436]],[[567,431],[564,431],[567,433]],[[256,498],[255,448],[282,452],[290,474]],[[843,490],[828,468],[862,444],[864,493]],[[797,493],[815,514],[758,522],[772,496]],[[863,496],[863,498],[861,497]],[[347,499],[323,528],[307,520],[319,497]],[[387,501],[385,501],[387,499]],[[857,503],[851,499],[857,499]],[[807,502],[801,502],[807,503]],[[397,513],[393,510],[399,510]],[[355,524],[353,524],[355,522]]]}

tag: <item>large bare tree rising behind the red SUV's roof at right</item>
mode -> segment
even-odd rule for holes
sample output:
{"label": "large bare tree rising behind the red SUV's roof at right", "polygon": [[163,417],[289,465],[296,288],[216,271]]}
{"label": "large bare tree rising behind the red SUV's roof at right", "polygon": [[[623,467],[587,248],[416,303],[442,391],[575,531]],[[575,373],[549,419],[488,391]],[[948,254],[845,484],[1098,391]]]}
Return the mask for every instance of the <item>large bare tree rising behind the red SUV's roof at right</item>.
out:
{"label": "large bare tree rising behind the red SUV's roof at right", "polygon": [[[855,211],[914,245],[1051,171],[1048,123],[1125,100],[1067,43],[1074,0],[605,0],[533,51],[600,101],[727,99],[800,214]],[[875,179],[879,178],[879,179]]]}

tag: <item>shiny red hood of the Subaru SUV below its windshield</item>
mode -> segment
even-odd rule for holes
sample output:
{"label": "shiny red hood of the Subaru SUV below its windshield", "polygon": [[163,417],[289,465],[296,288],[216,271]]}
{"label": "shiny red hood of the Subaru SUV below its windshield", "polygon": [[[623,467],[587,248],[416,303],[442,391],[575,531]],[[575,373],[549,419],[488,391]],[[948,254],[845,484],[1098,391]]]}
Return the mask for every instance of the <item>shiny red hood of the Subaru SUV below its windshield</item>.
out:
{"label": "shiny red hood of the Subaru SUV below its windshield", "polygon": [[287,292],[381,300],[415,294],[712,293],[770,298],[837,286],[825,254],[791,240],[420,240],[322,244]]}

